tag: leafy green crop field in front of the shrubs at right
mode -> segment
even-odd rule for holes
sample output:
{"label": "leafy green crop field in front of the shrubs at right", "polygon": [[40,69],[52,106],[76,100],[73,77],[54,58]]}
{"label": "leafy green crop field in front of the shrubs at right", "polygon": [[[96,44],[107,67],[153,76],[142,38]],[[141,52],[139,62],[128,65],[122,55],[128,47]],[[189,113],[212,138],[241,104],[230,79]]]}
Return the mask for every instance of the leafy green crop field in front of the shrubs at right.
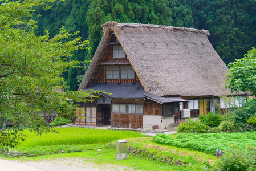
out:
{"label": "leafy green crop field in front of the shrubs at right", "polygon": [[159,144],[172,145],[180,148],[198,150],[208,154],[216,154],[217,150],[226,152],[233,145],[245,149],[247,145],[256,147],[256,132],[235,133],[179,133],[176,137],[165,134],[153,136],[153,141]]}

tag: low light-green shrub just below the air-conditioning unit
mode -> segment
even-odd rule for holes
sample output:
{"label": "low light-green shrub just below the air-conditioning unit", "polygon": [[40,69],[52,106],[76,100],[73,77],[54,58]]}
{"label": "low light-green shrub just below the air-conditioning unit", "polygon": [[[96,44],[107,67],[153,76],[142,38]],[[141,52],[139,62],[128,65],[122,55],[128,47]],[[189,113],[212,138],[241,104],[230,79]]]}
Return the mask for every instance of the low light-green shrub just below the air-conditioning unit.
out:
{"label": "low light-green shrub just below the air-conditioning unit", "polygon": [[188,121],[185,121],[184,123],[181,123],[178,126],[178,133],[180,132],[198,132],[198,133],[204,133],[207,132],[210,129],[208,125],[205,125],[199,120],[191,120],[188,118]]}

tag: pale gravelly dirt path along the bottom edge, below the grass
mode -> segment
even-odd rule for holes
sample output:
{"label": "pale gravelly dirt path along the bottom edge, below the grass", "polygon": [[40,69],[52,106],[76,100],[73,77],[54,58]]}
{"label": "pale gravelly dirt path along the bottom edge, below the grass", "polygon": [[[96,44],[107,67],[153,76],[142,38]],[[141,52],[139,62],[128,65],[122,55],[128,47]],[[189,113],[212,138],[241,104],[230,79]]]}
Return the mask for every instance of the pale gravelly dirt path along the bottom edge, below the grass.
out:
{"label": "pale gravelly dirt path along the bottom edge, below the grass", "polygon": [[42,161],[17,161],[22,164],[30,165],[42,171],[123,171],[133,170],[125,166],[117,166],[112,164],[97,165],[91,159],[84,158],[59,158],[55,160],[42,160]]}

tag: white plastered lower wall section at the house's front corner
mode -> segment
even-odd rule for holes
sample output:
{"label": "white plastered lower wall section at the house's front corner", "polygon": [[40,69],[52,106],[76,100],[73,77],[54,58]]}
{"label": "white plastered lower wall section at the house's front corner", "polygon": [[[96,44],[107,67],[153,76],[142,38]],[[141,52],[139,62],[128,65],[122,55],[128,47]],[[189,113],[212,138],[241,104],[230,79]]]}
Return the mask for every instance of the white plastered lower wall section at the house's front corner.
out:
{"label": "white plastered lower wall section at the house's front corner", "polygon": [[[161,123],[162,120],[162,123]],[[158,129],[167,129],[174,127],[173,116],[162,117],[154,115],[143,115],[143,129],[152,129],[152,125],[156,124]]]}

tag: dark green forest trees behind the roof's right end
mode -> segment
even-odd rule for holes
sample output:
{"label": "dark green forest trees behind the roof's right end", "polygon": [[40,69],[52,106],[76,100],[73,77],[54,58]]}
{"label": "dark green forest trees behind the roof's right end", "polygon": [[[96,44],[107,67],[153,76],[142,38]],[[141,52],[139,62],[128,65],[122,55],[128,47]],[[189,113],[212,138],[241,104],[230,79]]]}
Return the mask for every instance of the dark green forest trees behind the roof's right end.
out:
{"label": "dark green forest trees behind the roof's right end", "polygon": [[226,64],[242,58],[256,43],[255,0],[187,0],[196,28],[210,31],[210,42]]}

